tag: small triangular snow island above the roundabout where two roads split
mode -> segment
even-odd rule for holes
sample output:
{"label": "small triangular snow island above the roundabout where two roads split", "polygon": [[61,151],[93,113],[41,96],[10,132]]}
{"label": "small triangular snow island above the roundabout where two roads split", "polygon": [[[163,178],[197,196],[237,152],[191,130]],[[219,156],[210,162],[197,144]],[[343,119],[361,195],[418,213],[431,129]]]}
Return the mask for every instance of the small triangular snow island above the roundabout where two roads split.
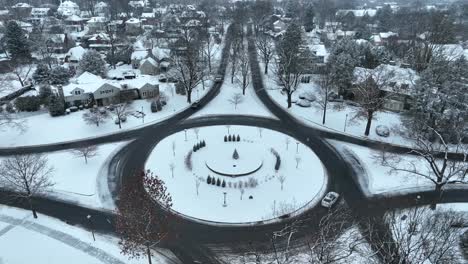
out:
{"label": "small triangular snow island above the roundabout where two roads split", "polygon": [[245,95],[242,96],[242,102],[237,105],[237,108],[229,102],[234,94],[242,94],[242,88],[236,81],[232,84],[228,76],[230,75],[226,73],[220,93],[190,118],[207,115],[251,115],[275,118],[258,99],[251,85],[247,87]]}

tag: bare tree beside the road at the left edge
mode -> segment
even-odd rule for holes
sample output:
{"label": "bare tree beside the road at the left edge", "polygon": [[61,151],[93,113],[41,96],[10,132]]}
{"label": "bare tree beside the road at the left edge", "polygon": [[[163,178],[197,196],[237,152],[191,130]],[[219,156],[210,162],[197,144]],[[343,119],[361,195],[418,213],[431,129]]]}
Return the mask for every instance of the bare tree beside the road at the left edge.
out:
{"label": "bare tree beside the road at the left edge", "polygon": [[50,179],[52,171],[43,155],[15,155],[2,161],[0,183],[12,190],[16,197],[26,199],[34,218],[37,218],[33,197],[46,193],[54,185]]}

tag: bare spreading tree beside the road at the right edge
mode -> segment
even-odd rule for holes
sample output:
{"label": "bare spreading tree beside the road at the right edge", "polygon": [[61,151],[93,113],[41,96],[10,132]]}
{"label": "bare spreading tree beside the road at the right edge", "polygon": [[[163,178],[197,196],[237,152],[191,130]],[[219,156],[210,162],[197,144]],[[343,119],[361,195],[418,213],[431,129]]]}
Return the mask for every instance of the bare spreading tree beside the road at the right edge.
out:
{"label": "bare spreading tree beside the road at the right edge", "polygon": [[[468,183],[468,147],[462,143],[462,137],[459,137],[457,144],[449,145],[438,131],[430,129],[438,136],[436,141],[429,141],[425,133],[417,133],[413,139],[413,147],[408,154],[414,154],[417,159],[393,154],[385,149],[376,158],[383,166],[390,168],[390,173],[407,173],[431,181],[435,192],[439,194],[439,198],[431,205],[435,208],[447,184]],[[451,153],[459,158],[450,158]],[[421,163],[425,166],[421,167]]]}

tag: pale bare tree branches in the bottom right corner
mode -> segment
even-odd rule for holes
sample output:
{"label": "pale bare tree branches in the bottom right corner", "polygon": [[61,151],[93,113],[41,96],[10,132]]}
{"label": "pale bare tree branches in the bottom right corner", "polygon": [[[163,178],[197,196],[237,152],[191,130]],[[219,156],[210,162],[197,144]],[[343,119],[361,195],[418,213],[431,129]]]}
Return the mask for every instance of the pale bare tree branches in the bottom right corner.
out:
{"label": "pale bare tree branches in the bottom right corner", "polygon": [[[384,218],[391,239],[374,240],[380,245],[381,254],[391,263],[457,263],[457,247],[463,222],[460,215],[452,211],[431,211],[427,207],[395,209]],[[371,227],[372,228],[372,227]],[[390,262],[388,262],[390,263]]]}

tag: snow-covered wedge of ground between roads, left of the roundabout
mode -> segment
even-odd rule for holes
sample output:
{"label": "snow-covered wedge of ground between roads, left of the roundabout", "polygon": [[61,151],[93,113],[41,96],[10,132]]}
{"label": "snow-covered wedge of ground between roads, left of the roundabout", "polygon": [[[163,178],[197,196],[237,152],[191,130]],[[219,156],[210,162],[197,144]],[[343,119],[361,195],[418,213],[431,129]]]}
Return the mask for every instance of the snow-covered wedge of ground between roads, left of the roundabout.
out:
{"label": "snow-covered wedge of ground between roads, left of the roundabout", "polygon": [[91,208],[114,210],[110,195],[106,195],[109,192],[107,166],[112,156],[127,143],[99,145],[98,155],[89,158],[88,164],[83,157],[76,157],[70,151],[46,153],[48,165],[53,167],[51,181],[55,183],[47,195]]}

